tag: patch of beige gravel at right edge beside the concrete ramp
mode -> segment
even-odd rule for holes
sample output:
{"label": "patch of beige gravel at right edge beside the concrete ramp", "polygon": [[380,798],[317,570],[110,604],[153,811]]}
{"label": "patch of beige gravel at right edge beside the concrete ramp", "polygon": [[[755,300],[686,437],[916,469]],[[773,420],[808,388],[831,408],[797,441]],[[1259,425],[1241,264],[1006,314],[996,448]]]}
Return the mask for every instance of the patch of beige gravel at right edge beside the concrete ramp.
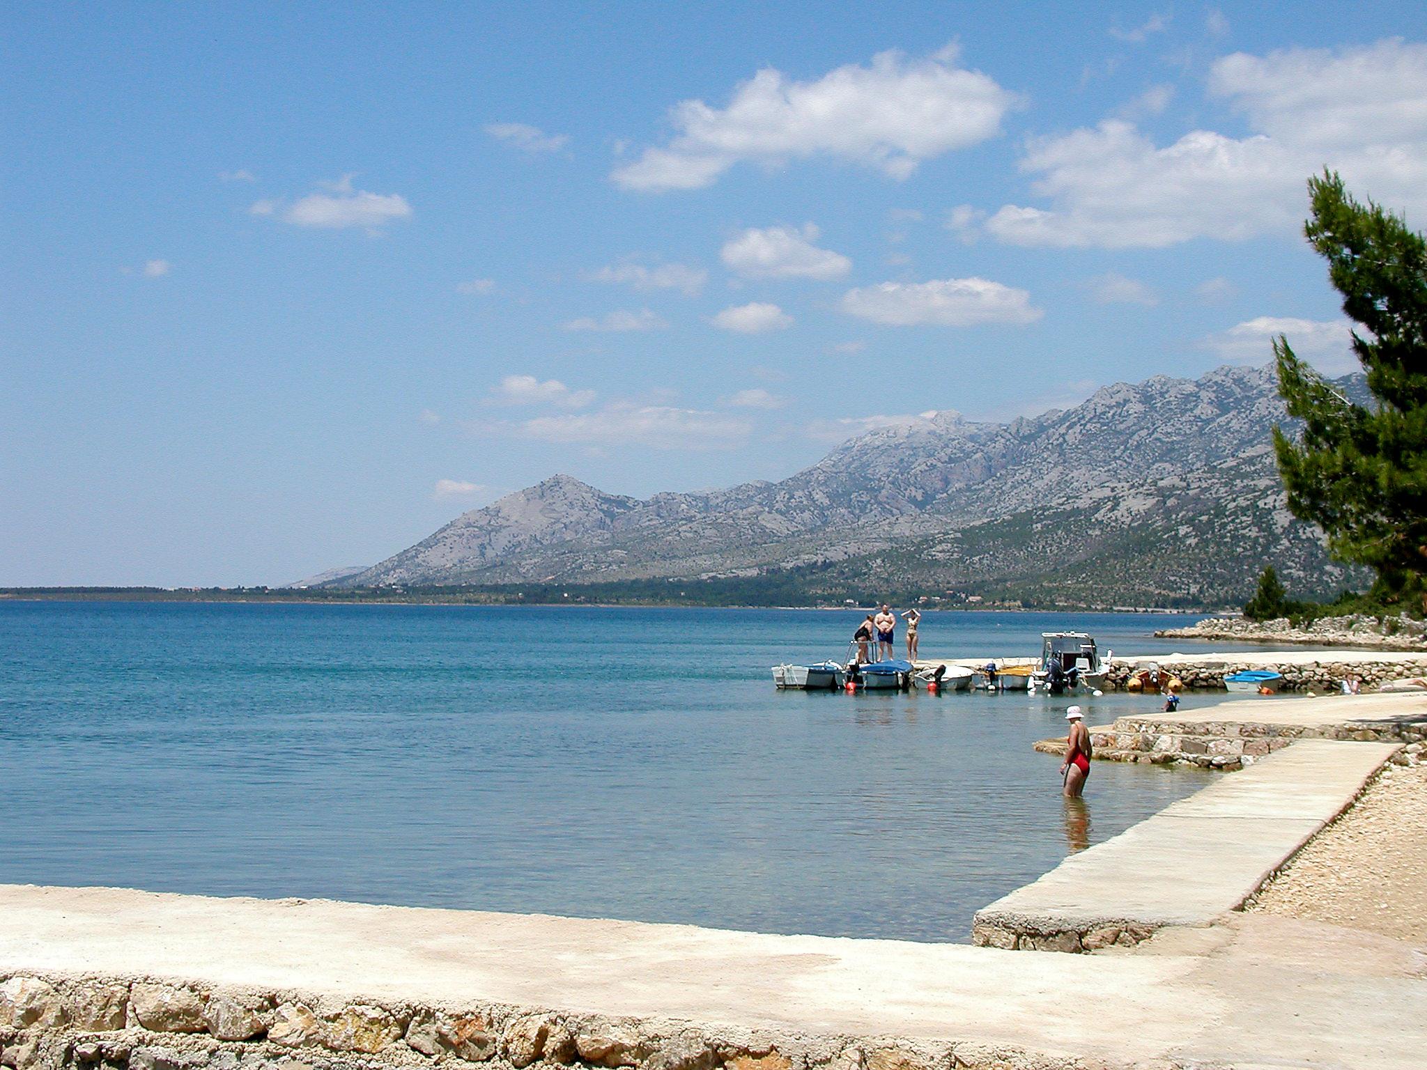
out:
{"label": "patch of beige gravel at right edge beside the concrete ramp", "polygon": [[1388,766],[1250,909],[1427,946],[1427,765]]}

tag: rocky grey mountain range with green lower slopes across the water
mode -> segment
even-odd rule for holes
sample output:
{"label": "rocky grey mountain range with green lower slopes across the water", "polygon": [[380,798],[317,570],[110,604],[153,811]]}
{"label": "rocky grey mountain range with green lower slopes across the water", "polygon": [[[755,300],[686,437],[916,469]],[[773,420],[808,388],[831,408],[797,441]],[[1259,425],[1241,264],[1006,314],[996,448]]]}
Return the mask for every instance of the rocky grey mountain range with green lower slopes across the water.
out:
{"label": "rocky grey mountain range with green lower slopes across the water", "polygon": [[[1340,381],[1361,394],[1361,377]],[[1287,511],[1273,372],[1119,382],[1010,422],[906,418],[778,482],[648,499],[568,475],[311,586],[796,578],[808,601],[923,589],[1036,605],[1217,606],[1264,565],[1296,596],[1361,575]]]}

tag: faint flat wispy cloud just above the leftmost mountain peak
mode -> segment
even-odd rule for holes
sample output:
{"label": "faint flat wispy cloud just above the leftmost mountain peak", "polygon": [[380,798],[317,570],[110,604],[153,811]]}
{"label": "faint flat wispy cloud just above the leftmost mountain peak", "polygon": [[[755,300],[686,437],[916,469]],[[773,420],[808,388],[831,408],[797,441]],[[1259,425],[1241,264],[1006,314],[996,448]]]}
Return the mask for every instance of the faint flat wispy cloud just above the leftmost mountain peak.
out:
{"label": "faint flat wispy cloud just above the leftmost mountain peak", "polygon": [[742,417],[719,412],[621,402],[599,412],[537,417],[518,428],[544,442],[586,442],[654,449],[716,449],[748,439],[753,427]]}

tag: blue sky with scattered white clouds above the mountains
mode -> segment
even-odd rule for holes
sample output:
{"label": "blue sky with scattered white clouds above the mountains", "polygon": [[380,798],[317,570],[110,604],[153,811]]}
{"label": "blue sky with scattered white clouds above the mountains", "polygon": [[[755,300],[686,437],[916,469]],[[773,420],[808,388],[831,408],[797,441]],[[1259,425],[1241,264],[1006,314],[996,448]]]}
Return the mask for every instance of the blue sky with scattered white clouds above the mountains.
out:
{"label": "blue sky with scattered white clouds above the mountains", "polygon": [[281,584],[568,472],[1329,372],[1420,3],[11,3],[0,585]]}

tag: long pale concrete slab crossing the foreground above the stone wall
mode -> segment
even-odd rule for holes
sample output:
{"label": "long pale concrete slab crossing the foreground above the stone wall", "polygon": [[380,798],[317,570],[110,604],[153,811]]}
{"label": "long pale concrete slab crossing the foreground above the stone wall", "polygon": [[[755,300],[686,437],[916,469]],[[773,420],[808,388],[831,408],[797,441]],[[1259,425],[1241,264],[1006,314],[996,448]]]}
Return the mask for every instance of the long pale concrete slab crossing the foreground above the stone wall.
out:
{"label": "long pale concrete slab crossing the foreground above the stone wall", "polygon": [[[1339,972],[1264,937],[1213,954],[1020,954],[688,926],[0,886],[0,976],[158,979],[375,1002],[628,1016],[781,1036],[948,1040],[1036,1067],[1418,1064],[1410,949]],[[1273,930],[1279,932],[1279,930]],[[1291,930],[1284,930],[1291,932]],[[1321,947],[1314,936],[1311,947]],[[872,1043],[870,1047],[876,1047]],[[370,1060],[368,1060],[370,1061]],[[375,1063],[372,1063],[375,1064]],[[980,1059],[976,1064],[983,1064]]]}

